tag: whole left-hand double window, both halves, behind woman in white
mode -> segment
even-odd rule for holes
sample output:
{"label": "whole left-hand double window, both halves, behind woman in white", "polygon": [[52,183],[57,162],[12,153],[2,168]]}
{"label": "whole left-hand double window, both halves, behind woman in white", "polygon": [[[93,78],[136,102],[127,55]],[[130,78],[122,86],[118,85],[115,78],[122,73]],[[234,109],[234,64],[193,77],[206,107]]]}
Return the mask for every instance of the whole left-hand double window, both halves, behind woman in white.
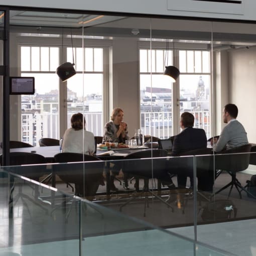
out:
{"label": "whole left-hand double window, both halves, behind woman in white", "polygon": [[[65,48],[68,62],[73,63],[72,48]],[[77,74],[67,80],[65,104],[67,127],[73,113],[83,112],[86,129],[95,136],[103,131],[103,48],[76,47]],[[63,60],[63,63],[66,62]],[[83,62],[84,61],[84,62]],[[22,141],[34,146],[42,137],[60,138],[59,95],[65,84],[59,81],[59,47],[21,46],[21,75],[35,77],[35,94],[21,96]],[[59,86],[60,83],[60,86]],[[64,124],[65,125],[65,124]]]}

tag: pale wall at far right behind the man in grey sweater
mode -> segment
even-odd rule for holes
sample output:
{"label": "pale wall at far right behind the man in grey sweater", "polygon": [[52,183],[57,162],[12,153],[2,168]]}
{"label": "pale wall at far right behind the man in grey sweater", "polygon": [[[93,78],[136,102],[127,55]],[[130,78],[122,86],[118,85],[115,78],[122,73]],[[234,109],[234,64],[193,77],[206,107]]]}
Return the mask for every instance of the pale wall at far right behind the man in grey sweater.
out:
{"label": "pale wall at far right behind the man in grey sweater", "polygon": [[238,107],[237,119],[244,125],[248,141],[256,143],[256,48],[229,53],[229,97]]}

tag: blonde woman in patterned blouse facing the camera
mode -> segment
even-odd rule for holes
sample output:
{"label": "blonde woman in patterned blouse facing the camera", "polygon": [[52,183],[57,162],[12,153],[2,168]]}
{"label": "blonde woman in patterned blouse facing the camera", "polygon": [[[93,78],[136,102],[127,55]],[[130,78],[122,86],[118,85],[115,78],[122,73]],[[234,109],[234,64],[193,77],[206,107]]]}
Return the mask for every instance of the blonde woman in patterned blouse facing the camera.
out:
{"label": "blonde woman in patterned blouse facing the camera", "polygon": [[[123,111],[121,108],[116,107],[113,109],[111,114],[111,121],[107,122],[104,126],[104,142],[118,142],[124,143],[125,140],[129,140],[127,124],[123,120]],[[120,164],[114,164],[111,170],[112,175],[110,176],[110,190],[117,191],[118,189],[114,185],[114,177],[119,174],[121,169]],[[127,178],[124,178],[123,187],[129,189]]]}

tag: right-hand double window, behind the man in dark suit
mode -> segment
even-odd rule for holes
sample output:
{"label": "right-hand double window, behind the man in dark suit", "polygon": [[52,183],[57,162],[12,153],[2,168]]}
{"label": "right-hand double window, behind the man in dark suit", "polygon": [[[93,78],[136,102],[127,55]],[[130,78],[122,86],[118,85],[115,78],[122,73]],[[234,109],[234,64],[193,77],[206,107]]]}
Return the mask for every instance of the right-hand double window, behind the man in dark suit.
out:
{"label": "right-hand double window, behind the man in dark suit", "polygon": [[[194,126],[210,137],[210,52],[206,50],[176,50],[179,70],[177,97],[172,83],[163,75],[165,66],[172,65],[173,51],[140,49],[141,129],[158,138],[173,135],[173,116],[189,111],[195,116]],[[176,98],[177,101],[176,102]],[[172,102],[180,106],[174,113]]]}

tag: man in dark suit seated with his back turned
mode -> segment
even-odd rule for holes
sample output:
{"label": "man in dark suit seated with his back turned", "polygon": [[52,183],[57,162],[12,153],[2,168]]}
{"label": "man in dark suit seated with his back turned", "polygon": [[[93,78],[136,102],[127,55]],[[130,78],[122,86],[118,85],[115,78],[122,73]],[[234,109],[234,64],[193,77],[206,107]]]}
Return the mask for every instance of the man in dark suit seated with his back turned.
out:
{"label": "man in dark suit seated with his back turned", "polygon": [[[180,126],[182,132],[174,138],[172,156],[184,156],[191,150],[207,148],[205,131],[193,128],[194,120],[194,115],[189,112],[181,114]],[[190,183],[193,186],[193,159],[191,157],[171,159],[169,172],[177,174],[178,187],[186,187],[187,177],[190,177]],[[204,179],[198,179],[198,187],[202,187],[202,184],[199,183],[203,182]]]}

